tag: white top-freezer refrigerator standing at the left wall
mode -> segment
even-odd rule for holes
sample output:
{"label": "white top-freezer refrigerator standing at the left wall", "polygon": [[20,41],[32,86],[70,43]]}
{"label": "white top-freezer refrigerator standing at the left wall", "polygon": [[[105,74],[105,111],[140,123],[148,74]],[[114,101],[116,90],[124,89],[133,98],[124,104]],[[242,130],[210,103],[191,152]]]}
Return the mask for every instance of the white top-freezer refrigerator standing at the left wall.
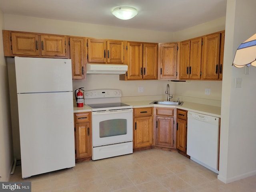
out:
{"label": "white top-freezer refrigerator standing at the left wall", "polygon": [[74,167],[71,60],[8,58],[8,74],[22,178]]}

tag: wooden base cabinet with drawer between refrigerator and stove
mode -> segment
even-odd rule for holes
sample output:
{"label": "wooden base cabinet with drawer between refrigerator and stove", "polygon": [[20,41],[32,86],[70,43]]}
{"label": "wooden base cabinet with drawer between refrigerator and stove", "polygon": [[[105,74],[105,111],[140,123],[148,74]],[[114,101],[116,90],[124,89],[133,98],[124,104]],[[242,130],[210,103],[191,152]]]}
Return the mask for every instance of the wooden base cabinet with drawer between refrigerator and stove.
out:
{"label": "wooden base cabinet with drawer between refrigerator and stove", "polygon": [[76,162],[92,158],[91,112],[74,113]]}

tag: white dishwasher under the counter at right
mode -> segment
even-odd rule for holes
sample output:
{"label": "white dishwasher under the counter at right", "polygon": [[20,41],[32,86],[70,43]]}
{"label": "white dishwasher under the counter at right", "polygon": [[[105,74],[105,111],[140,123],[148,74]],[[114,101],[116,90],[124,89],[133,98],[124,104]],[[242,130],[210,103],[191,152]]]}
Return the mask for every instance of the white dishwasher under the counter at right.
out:
{"label": "white dishwasher under the counter at right", "polygon": [[188,111],[187,154],[218,173],[219,118]]}

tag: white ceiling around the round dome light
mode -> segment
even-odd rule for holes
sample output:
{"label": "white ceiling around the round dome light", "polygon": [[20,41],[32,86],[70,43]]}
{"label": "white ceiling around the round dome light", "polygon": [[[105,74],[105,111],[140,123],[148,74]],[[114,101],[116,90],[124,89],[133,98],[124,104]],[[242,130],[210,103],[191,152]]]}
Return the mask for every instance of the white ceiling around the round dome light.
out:
{"label": "white ceiling around the round dome light", "polygon": [[[226,16],[226,1],[0,0],[0,9],[4,14],[176,32]],[[111,13],[118,6],[133,6],[139,14],[130,20],[120,20]]]}

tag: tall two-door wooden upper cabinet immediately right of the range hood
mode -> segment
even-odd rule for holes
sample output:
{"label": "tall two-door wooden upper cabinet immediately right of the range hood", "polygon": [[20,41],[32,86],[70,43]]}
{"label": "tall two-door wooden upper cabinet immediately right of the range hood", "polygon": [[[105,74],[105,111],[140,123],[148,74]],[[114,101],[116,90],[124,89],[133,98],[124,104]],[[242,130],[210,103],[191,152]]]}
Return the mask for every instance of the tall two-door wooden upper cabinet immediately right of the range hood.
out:
{"label": "tall two-door wooden upper cabinet immediately right of the range hood", "polygon": [[120,75],[120,80],[157,79],[158,44],[127,42],[127,74]]}

